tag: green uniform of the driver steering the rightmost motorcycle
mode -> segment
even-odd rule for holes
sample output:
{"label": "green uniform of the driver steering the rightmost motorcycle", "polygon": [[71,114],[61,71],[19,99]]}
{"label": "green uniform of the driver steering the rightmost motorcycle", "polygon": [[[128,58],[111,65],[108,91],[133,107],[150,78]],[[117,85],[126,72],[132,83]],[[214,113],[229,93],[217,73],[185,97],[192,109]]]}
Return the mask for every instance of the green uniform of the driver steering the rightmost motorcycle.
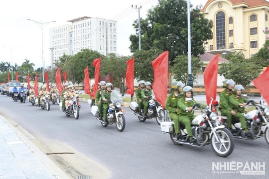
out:
{"label": "green uniform of the driver steering the rightmost motorcycle", "polygon": [[[240,107],[240,106],[239,106],[239,103],[245,103],[245,102],[247,102],[247,101],[248,101],[247,98],[245,98],[245,97],[241,97],[241,95],[238,96],[237,94],[232,94],[232,95],[229,97],[230,105],[231,105],[232,109],[233,109],[234,111],[236,111],[236,115],[232,115],[232,119],[237,119],[237,120],[239,120],[240,123],[241,123],[241,127],[242,127],[243,129],[245,129],[245,131],[246,131],[246,129],[247,129],[247,124],[246,124],[245,116],[242,115],[242,113],[245,113],[245,111],[244,111],[245,107]],[[248,129],[247,129],[246,132],[248,132]]]}

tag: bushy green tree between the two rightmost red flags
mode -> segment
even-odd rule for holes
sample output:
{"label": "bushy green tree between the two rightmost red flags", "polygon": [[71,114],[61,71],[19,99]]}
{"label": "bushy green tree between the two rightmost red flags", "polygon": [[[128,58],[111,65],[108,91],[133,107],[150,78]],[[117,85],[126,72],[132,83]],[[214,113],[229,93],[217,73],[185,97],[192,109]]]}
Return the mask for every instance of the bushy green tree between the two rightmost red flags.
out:
{"label": "bushy green tree between the two rightmost red flags", "polygon": [[219,74],[249,89],[248,86],[260,75],[261,67],[252,59],[245,59],[242,52],[228,53],[226,57],[229,62],[220,65]]}

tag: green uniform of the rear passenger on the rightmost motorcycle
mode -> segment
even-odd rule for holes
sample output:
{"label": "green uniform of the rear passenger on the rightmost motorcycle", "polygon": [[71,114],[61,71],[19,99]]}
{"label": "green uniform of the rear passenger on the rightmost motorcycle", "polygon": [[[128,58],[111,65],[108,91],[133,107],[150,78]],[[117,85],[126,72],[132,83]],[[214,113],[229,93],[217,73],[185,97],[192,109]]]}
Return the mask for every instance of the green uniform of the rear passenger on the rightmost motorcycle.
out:
{"label": "green uniform of the rear passenger on the rightmost motorcycle", "polygon": [[232,90],[230,89],[224,89],[220,93],[220,111],[222,115],[227,116],[227,122],[228,122],[228,128],[232,128],[232,113],[233,110],[230,103],[229,103],[229,97],[232,95]]}

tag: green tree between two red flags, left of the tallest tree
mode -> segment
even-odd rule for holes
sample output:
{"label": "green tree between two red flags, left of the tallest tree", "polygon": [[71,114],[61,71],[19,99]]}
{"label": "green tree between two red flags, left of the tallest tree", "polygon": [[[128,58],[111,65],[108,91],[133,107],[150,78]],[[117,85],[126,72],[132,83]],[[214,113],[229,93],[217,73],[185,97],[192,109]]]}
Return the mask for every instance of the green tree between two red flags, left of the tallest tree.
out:
{"label": "green tree between two red flags, left of the tallest tree", "polygon": [[152,48],[149,50],[140,50],[134,52],[134,78],[139,80],[153,82],[152,61],[163,51]]}

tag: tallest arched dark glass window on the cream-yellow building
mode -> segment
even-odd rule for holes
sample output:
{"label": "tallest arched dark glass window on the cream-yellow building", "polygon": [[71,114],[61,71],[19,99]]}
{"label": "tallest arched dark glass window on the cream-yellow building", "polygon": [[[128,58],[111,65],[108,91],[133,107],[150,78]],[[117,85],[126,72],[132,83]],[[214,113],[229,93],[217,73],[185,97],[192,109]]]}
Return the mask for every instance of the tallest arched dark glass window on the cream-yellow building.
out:
{"label": "tallest arched dark glass window on the cream-yellow building", "polygon": [[216,15],[217,50],[226,48],[225,37],[225,14],[223,11],[220,11]]}

